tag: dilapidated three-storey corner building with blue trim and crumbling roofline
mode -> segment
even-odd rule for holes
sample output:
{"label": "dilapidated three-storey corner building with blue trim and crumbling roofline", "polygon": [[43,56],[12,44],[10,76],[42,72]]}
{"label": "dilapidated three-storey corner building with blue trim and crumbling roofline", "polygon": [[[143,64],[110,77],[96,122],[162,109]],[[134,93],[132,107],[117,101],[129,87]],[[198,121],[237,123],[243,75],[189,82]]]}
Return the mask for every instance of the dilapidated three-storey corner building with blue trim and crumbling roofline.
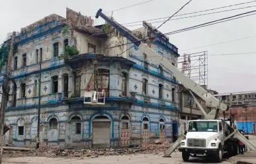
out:
{"label": "dilapidated three-storey corner building with blue trim and crumbling roofline", "polygon": [[[128,32],[137,38],[160,33],[147,22]],[[5,143],[35,146],[38,119],[43,146],[110,147],[147,144],[156,138],[171,141],[178,133],[178,82],[169,70],[151,64],[128,42],[115,27],[94,26],[91,18],[71,9],[66,18],[51,14],[21,28],[12,61],[18,90],[17,95],[9,96],[5,122],[11,130]],[[178,49],[168,38],[157,36],[147,43],[177,66]],[[110,48],[116,45],[122,46]],[[6,60],[3,53],[1,57]],[[4,70],[1,82],[3,74]],[[88,86],[105,90],[105,105],[83,103]]]}

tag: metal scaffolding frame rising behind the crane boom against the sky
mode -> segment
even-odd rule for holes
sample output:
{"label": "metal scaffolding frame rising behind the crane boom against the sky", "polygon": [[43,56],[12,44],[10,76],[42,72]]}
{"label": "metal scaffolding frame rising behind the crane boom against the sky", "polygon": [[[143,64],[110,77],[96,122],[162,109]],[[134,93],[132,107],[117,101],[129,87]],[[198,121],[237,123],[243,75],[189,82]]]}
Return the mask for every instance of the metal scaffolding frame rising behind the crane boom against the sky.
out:
{"label": "metal scaffolding frame rising behind the crane boom against the sky", "polygon": [[207,51],[184,54],[178,63],[181,72],[200,86],[208,86],[208,53]]}

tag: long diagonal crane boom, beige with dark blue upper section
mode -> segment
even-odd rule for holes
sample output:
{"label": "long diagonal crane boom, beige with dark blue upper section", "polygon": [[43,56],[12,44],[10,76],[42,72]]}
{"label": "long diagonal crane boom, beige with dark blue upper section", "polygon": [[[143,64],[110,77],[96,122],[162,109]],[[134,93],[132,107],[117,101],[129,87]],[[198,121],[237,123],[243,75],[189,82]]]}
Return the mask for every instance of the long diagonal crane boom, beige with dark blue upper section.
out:
{"label": "long diagonal crane boom, beige with dark blue upper section", "polygon": [[181,84],[185,86],[185,88],[191,90],[192,92],[194,92],[194,94],[202,98],[206,102],[206,106],[214,108],[214,110],[208,113],[210,115],[206,114],[202,107],[200,108],[206,119],[216,119],[216,113],[218,113],[219,109],[222,111],[228,110],[228,105],[220,102],[218,99],[216,99],[216,97],[212,96],[210,93],[204,90],[204,88],[196,84],[196,82],[194,82],[191,78],[185,76],[185,74],[183,74],[181,71],[178,70],[178,68],[176,68],[169,61],[163,58],[163,56],[159,55],[157,52],[148,47],[148,45],[143,43],[141,40],[138,40],[136,37],[130,34],[128,30],[120,26],[120,24],[108,18],[108,16],[102,13],[102,9],[99,9],[99,11],[96,14],[96,18],[98,18],[99,16],[101,16],[101,18],[103,18],[108,24],[110,24],[110,26],[116,28],[116,30],[118,30],[120,34],[126,36],[128,40],[132,41],[132,43],[137,45],[138,49],[142,49],[143,52],[147,55],[147,61],[149,61],[149,63],[152,63],[154,65],[163,65],[163,67],[167,68],[167,70],[173,73],[173,76],[175,76],[177,80],[179,80],[179,82],[181,82]]}

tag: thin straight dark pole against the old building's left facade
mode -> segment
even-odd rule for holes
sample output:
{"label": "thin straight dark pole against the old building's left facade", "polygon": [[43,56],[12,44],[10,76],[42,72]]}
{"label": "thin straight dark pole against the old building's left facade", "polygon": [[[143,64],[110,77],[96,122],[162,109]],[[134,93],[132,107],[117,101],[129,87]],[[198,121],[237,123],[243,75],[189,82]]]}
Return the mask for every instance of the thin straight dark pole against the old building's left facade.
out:
{"label": "thin straight dark pole against the old building's left facade", "polygon": [[42,76],[42,51],[40,50],[36,149],[39,148],[39,144],[40,144],[41,76]]}

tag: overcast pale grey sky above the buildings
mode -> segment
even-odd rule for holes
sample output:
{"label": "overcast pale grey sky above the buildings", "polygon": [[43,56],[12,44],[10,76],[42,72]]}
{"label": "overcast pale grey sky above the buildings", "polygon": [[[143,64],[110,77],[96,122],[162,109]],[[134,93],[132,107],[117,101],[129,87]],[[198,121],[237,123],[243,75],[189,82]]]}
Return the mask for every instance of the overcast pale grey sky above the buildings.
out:
{"label": "overcast pale grey sky above the buildings", "polygon": [[[0,43],[7,38],[7,33],[17,31],[20,32],[22,27],[28,26],[44,16],[50,14],[59,14],[65,18],[65,8],[68,7],[81,14],[87,16],[95,16],[95,13],[101,8],[103,12],[113,11],[123,7],[128,7],[137,3],[143,3],[148,0],[44,0],[44,1],[14,1],[9,0],[2,3],[0,10],[1,26],[0,26]],[[110,16],[120,24],[128,22],[137,22],[142,20],[149,20],[153,18],[161,18],[171,16],[178,11],[189,0],[153,0],[142,5],[136,5],[126,9],[108,13]],[[250,0],[192,0],[186,7],[184,7],[178,14],[192,13],[206,9],[213,9],[237,3],[245,3]],[[163,24],[159,30],[163,33],[180,30],[204,22],[233,16],[235,14],[245,13],[256,10],[256,2],[245,5],[238,5],[235,7],[228,7],[216,11],[224,11],[228,9],[237,9],[241,7],[249,7],[247,9],[239,9],[228,11],[224,13],[208,14],[204,16],[196,16],[192,18],[183,18],[179,20],[171,20]],[[216,11],[208,11],[204,13],[212,13]],[[198,14],[204,14],[198,13]],[[192,16],[185,15],[185,16]],[[94,17],[95,18],[95,17]],[[181,18],[177,16],[175,18]],[[245,92],[256,90],[256,71],[254,70],[256,61],[256,14],[198,28],[196,30],[189,30],[169,36],[169,41],[179,48],[179,54],[197,53],[200,51],[207,51],[208,53],[208,88],[216,90],[219,93],[228,92]],[[162,19],[165,20],[165,19]],[[148,22],[154,22],[152,20]],[[101,19],[95,20],[95,25],[103,24]],[[140,23],[136,23],[140,24]],[[161,22],[152,23],[153,26],[158,27]],[[130,24],[134,25],[134,24]],[[130,30],[140,28],[138,26],[127,26]],[[255,36],[255,37],[251,37]],[[251,37],[251,38],[248,38]],[[247,38],[244,40],[237,40],[240,38]],[[237,40],[237,41],[230,41]],[[230,41],[228,43],[215,43]],[[204,46],[211,45],[211,46]],[[202,47],[204,46],[204,47]],[[195,48],[200,47],[200,48]],[[253,53],[249,53],[253,52]],[[238,55],[222,55],[227,53],[238,53]],[[241,54],[247,53],[247,54]],[[182,61],[180,59],[179,61]],[[197,64],[198,65],[198,64]]]}

